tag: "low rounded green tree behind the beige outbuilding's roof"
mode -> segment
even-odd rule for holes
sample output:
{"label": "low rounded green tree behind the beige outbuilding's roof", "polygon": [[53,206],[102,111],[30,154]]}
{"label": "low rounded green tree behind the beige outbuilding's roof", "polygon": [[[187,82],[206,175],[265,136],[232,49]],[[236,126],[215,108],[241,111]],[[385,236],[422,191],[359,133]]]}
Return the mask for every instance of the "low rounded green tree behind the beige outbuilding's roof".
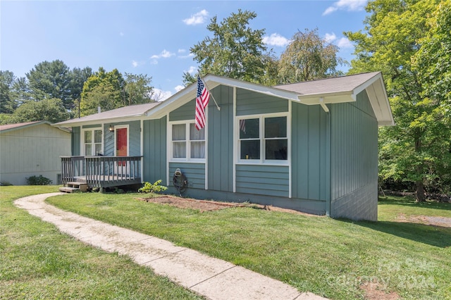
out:
{"label": "low rounded green tree behind the beige outbuilding's roof", "polygon": [[63,106],[61,99],[44,99],[41,101],[28,101],[19,106],[13,113],[12,123],[46,120],[57,123],[68,120],[69,113]]}

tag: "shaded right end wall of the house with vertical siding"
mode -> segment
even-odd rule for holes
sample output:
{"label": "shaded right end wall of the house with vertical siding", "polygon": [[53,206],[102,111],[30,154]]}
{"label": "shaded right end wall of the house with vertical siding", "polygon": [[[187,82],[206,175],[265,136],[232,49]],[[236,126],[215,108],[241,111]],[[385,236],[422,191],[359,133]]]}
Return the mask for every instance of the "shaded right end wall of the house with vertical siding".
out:
{"label": "shaded right end wall of the house with vertical siding", "polygon": [[377,220],[378,123],[366,92],[330,113],[330,216]]}

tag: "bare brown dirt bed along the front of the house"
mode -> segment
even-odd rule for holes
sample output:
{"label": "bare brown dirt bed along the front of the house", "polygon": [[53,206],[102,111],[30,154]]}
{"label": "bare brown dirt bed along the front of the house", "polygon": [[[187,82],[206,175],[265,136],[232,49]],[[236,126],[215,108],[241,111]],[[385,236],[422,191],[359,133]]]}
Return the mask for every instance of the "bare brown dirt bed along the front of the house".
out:
{"label": "bare brown dirt bed along the front of the house", "polygon": [[[178,208],[190,208],[200,212],[204,211],[217,211],[223,208],[230,207],[251,207],[257,209],[263,209],[265,211],[281,211],[284,213],[295,213],[299,215],[311,215],[309,213],[302,213],[300,211],[294,211],[292,209],[280,208],[271,205],[261,205],[261,204],[249,204],[249,203],[236,203],[236,202],[221,202],[221,201],[209,201],[209,200],[198,200],[190,198],[181,198],[178,196],[156,196],[154,198],[138,198],[141,201],[152,202],[156,204],[167,204],[175,206]],[[319,215],[315,215],[319,216]]]}

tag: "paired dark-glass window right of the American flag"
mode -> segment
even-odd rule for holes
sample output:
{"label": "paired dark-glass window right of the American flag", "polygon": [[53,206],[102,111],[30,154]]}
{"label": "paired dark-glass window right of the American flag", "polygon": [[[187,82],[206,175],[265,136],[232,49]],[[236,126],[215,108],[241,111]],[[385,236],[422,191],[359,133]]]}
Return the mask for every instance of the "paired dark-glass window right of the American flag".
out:
{"label": "paired dark-glass window right of the American flag", "polygon": [[240,160],[259,162],[288,160],[286,116],[259,116],[239,120]]}

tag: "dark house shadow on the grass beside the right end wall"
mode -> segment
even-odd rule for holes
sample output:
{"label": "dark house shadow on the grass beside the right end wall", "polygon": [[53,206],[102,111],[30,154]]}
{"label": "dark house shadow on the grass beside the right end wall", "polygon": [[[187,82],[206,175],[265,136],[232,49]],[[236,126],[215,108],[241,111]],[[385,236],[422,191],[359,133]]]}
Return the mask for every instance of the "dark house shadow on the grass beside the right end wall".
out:
{"label": "dark house shadow on the grass beside the right end wall", "polygon": [[410,239],[415,242],[429,244],[440,248],[451,246],[451,228],[424,225],[419,223],[402,223],[402,222],[352,222],[351,220],[341,220],[342,222],[354,223],[363,227],[371,228],[389,235]]}

